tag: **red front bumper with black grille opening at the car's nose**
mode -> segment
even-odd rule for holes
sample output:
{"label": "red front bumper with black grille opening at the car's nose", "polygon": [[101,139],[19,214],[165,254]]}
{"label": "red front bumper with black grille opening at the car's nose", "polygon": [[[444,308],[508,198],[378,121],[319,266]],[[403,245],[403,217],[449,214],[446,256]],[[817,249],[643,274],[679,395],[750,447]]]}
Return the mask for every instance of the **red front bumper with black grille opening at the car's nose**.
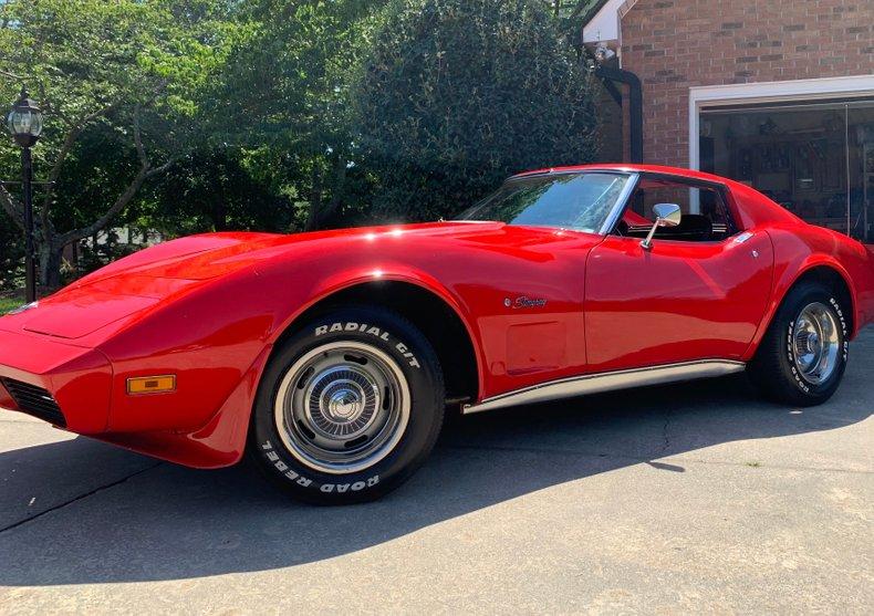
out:
{"label": "red front bumper with black grille opening at the car's nose", "polygon": [[110,361],[97,349],[0,331],[0,407],[79,434],[103,432],[112,374]]}

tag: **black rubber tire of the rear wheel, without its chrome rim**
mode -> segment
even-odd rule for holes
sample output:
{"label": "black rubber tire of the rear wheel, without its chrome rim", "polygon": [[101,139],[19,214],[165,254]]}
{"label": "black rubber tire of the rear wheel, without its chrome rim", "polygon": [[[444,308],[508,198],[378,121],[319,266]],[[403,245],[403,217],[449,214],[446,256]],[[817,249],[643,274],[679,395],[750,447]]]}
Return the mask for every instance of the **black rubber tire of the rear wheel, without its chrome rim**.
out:
{"label": "black rubber tire of the rear wheel, without its chrome rim", "polygon": [[[824,401],[832,394],[834,394],[837,386],[841,384],[844,369],[846,368],[847,352],[849,352],[849,324],[846,312],[841,303],[841,299],[829,289],[818,284],[808,284],[799,286],[793,290],[788,297],[788,302],[780,311],[780,322],[778,341],[780,343],[780,367],[783,373],[783,378],[804,400],[818,404]],[[801,314],[801,311],[811,303],[819,302],[825,305],[834,316],[840,331],[840,345],[841,348],[837,353],[837,366],[831,376],[822,383],[812,384],[804,379],[795,366],[794,355],[794,326],[795,320]]]}

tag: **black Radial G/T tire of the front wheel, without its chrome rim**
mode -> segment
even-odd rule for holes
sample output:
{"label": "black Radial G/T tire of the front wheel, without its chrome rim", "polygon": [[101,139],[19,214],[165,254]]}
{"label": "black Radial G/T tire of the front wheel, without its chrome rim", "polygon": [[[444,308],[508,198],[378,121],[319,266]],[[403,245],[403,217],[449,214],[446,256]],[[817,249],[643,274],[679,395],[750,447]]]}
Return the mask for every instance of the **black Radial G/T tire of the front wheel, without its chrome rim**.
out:
{"label": "black Radial G/T tire of the front wheel, without its chrome rim", "polygon": [[[274,400],[288,369],[305,353],[333,342],[361,342],[386,353],[400,368],[410,396],[409,419],[395,448],[374,466],[353,473],[310,468],[288,451],[274,420]],[[259,385],[248,453],[294,498],[318,504],[373,500],[396,488],[427,458],[443,424],[443,376],[434,349],[409,322],[372,307],[341,309],[319,316],[274,352]]]}

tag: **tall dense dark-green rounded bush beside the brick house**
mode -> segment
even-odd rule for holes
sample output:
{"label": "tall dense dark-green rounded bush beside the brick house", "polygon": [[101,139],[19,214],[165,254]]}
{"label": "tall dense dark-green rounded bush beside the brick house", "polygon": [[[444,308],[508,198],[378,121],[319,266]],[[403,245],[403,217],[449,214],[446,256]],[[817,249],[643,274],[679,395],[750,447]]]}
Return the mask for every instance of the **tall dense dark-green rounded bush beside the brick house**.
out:
{"label": "tall dense dark-green rounded bush beside the brick house", "polygon": [[591,161],[591,76],[540,0],[396,0],[352,87],[374,218],[449,217],[509,174]]}

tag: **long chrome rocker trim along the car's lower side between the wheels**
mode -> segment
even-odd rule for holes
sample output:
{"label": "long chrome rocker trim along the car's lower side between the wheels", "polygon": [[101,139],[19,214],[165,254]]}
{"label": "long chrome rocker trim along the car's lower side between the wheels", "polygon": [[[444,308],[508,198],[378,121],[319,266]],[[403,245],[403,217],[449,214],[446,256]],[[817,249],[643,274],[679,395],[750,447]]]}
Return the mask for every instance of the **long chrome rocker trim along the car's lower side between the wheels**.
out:
{"label": "long chrome rocker trim along the car's lower side between the wheels", "polygon": [[700,362],[683,362],[679,364],[574,376],[486,398],[479,404],[465,405],[461,410],[465,415],[469,415],[508,406],[542,403],[585,394],[612,391],[614,389],[724,376],[741,372],[746,367],[747,365],[743,362],[703,359]]}

